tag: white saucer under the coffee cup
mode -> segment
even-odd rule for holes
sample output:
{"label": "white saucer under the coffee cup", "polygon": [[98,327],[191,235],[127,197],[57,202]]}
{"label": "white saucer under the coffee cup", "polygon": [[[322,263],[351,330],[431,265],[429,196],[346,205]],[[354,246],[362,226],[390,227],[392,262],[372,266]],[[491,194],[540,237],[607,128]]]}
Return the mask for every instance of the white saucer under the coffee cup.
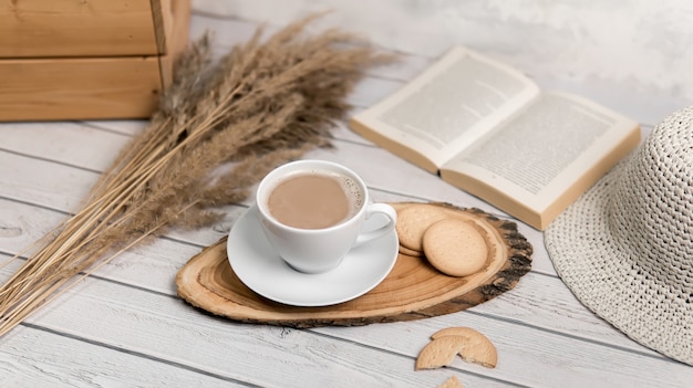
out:
{"label": "white saucer under the coffee cup", "polygon": [[[383,217],[384,218],[384,217]],[[373,216],[364,229],[385,221]],[[226,245],[234,272],[250,290],[294,306],[327,306],[353,300],[375,287],[387,276],[397,259],[397,233],[352,249],[341,264],[329,272],[307,274],[291,269],[267,242],[251,207],[231,229]]]}

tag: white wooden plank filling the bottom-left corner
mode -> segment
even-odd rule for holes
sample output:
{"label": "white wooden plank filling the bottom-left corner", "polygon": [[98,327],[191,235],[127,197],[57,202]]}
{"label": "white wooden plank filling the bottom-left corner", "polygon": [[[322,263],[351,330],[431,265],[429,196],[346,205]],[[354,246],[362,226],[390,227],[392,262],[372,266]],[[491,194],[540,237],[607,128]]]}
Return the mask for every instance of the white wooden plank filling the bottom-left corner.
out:
{"label": "white wooden plank filling the bottom-left corner", "polygon": [[247,387],[34,327],[3,338],[0,376],[3,387]]}

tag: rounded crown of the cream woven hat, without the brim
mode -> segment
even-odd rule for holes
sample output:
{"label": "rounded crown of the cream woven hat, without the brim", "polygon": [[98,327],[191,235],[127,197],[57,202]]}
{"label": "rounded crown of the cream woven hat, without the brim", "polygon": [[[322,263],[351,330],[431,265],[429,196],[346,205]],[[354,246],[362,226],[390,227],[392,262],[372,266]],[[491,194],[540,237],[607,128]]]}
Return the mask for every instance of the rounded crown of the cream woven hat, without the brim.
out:
{"label": "rounded crown of the cream woven hat, without the brim", "polygon": [[693,107],[652,130],[612,189],[609,228],[619,249],[693,303]]}

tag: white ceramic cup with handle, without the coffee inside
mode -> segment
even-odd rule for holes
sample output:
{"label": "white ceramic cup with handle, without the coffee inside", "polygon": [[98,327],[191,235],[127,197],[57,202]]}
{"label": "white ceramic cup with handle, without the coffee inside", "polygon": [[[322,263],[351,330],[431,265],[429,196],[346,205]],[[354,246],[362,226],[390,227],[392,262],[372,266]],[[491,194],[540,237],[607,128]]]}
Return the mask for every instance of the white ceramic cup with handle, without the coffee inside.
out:
{"label": "white ceramic cup with handle, without the coffee inside", "polygon": [[[344,178],[348,181],[344,192],[355,203],[351,214],[320,229],[297,228],[278,221],[270,211],[270,196],[280,183],[304,175]],[[325,160],[298,160],[270,171],[258,186],[256,205],[269,243],[290,266],[306,273],[322,273],[337,268],[355,245],[391,233],[397,217],[391,206],[371,203],[365,183],[354,171]],[[364,221],[375,213],[384,214],[387,222],[376,230],[363,231]]]}

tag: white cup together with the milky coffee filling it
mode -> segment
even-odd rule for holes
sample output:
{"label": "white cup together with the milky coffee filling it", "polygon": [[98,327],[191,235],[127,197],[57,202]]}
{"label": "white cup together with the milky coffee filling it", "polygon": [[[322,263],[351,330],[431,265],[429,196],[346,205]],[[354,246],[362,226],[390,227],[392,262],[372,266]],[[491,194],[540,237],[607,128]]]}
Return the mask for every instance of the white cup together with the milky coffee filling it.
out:
{"label": "white cup together with the milky coffee filling it", "polygon": [[[293,269],[321,273],[334,269],[358,244],[394,230],[396,213],[370,203],[363,180],[325,160],[298,160],[268,174],[256,193],[262,231]],[[386,223],[364,232],[365,219],[382,213]]]}

